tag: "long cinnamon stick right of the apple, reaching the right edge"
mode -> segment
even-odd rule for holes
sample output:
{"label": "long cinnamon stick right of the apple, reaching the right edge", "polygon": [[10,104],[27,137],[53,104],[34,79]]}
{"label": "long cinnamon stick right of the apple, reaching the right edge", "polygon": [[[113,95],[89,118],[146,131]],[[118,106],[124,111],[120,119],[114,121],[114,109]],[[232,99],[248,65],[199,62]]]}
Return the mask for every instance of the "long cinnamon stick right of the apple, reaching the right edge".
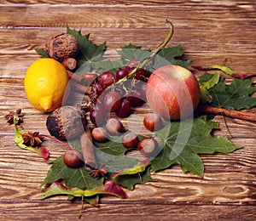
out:
{"label": "long cinnamon stick right of the apple, reaching the right edge", "polygon": [[197,108],[197,111],[203,114],[224,115],[250,122],[256,122],[256,114],[252,112],[234,111],[211,105],[200,105]]}

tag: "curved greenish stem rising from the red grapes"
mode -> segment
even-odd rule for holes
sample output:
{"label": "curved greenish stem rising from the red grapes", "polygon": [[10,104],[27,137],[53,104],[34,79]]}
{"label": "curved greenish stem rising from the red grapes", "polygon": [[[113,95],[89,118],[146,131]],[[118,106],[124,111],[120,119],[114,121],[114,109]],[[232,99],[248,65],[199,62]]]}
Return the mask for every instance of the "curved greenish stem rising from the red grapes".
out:
{"label": "curved greenish stem rising from the red grapes", "polygon": [[135,75],[135,73],[143,68],[145,65],[148,64],[148,62],[150,62],[152,59],[154,59],[154,57],[156,56],[156,54],[158,54],[160,52],[160,50],[162,48],[165,48],[166,47],[166,44],[168,42],[170,42],[171,38],[172,38],[172,35],[173,35],[173,25],[172,25],[172,22],[169,21],[169,20],[166,20],[166,24],[167,26],[169,27],[169,32],[165,38],[165,40],[163,42],[160,43],[160,45],[154,50],[154,52],[152,54],[150,54],[150,56],[147,58],[147,59],[144,59],[143,62],[141,62],[140,64],[137,65],[137,67],[131,71],[131,73],[129,75],[127,75],[125,78],[119,80],[119,82],[117,83],[122,83],[122,82],[125,82],[128,78],[130,77],[133,77]]}

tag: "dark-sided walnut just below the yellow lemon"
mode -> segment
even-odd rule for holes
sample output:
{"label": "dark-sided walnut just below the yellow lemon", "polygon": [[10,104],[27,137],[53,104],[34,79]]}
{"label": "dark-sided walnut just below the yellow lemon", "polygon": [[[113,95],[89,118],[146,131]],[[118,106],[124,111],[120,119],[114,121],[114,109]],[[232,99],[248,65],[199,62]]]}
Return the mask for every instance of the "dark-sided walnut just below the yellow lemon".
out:
{"label": "dark-sided walnut just below the yellow lemon", "polygon": [[73,139],[84,132],[86,125],[85,111],[73,106],[61,106],[53,111],[46,120],[49,134],[56,139]]}

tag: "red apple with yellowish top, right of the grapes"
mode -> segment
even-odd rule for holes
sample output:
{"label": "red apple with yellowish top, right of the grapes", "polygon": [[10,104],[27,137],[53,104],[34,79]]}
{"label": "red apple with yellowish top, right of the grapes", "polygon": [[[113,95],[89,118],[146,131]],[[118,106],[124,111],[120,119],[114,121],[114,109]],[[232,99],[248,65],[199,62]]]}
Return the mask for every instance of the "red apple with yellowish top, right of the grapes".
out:
{"label": "red apple with yellowish top, right of the grapes", "polygon": [[199,83],[187,69],[165,65],[149,77],[146,88],[148,105],[168,120],[190,116],[201,99]]}

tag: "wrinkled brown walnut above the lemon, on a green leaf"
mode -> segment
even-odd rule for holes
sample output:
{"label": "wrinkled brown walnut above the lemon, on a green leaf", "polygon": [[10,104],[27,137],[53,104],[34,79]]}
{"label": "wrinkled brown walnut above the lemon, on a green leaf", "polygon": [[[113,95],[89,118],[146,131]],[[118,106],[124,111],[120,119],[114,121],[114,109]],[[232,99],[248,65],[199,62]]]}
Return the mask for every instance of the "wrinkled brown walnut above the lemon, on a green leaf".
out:
{"label": "wrinkled brown walnut above the lemon, on a green leaf", "polygon": [[79,42],[70,34],[61,33],[49,38],[45,46],[50,58],[60,62],[66,58],[75,58],[79,53]]}

